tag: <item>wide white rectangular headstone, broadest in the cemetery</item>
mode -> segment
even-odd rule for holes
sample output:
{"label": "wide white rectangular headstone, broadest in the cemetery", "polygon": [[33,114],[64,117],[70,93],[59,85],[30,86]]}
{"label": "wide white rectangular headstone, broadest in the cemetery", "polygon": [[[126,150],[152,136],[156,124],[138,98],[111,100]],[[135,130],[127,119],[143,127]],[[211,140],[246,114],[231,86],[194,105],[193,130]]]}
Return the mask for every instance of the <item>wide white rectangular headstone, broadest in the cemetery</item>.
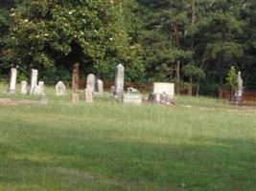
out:
{"label": "wide white rectangular headstone, broadest in the cemetery", "polygon": [[175,84],[174,83],[164,83],[164,82],[154,82],[152,94],[165,94],[174,98],[175,96]]}

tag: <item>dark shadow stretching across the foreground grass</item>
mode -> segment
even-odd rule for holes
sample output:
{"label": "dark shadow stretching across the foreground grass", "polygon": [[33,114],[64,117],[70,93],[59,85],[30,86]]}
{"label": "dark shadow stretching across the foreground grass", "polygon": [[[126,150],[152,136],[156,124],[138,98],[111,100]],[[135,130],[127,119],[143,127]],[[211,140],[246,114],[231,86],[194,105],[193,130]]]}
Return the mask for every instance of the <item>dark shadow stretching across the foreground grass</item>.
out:
{"label": "dark shadow stretching across the foreground grass", "polygon": [[255,190],[255,141],[192,138],[188,144],[181,142],[78,137],[2,144],[0,182],[44,186],[41,178],[49,176],[63,187],[76,187],[85,180],[110,190]]}

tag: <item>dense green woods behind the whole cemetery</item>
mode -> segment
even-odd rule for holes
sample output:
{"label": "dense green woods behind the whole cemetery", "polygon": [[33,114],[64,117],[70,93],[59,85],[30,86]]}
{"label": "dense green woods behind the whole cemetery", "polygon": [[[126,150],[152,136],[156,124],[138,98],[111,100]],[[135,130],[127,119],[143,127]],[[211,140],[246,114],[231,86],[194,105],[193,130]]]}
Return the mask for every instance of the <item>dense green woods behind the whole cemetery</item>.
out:
{"label": "dense green woods behind the whole cemetery", "polygon": [[215,95],[232,66],[256,90],[255,0],[2,0],[0,74],[19,79],[32,67],[48,83],[80,73],[174,81]]}

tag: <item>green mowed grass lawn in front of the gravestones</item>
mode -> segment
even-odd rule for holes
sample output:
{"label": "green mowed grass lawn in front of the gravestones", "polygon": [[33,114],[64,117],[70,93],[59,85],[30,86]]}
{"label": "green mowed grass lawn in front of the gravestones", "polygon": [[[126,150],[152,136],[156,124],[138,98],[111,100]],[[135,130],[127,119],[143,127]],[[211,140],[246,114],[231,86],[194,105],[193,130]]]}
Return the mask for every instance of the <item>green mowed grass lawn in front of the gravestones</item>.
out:
{"label": "green mowed grass lawn in front of the gravestones", "polygon": [[256,112],[191,97],[73,105],[47,91],[46,106],[0,108],[1,191],[256,190]]}

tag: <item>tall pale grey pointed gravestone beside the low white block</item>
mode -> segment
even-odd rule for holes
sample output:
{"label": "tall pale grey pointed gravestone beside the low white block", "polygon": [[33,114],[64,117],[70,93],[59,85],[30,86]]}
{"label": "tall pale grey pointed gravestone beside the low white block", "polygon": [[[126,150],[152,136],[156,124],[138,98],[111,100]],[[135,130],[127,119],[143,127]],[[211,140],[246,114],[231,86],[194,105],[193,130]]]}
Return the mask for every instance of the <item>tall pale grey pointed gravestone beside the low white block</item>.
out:
{"label": "tall pale grey pointed gravestone beside the low white block", "polygon": [[116,97],[122,97],[124,93],[124,82],[125,82],[125,67],[122,64],[119,64],[116,67],[115,74],[115,92]]}

